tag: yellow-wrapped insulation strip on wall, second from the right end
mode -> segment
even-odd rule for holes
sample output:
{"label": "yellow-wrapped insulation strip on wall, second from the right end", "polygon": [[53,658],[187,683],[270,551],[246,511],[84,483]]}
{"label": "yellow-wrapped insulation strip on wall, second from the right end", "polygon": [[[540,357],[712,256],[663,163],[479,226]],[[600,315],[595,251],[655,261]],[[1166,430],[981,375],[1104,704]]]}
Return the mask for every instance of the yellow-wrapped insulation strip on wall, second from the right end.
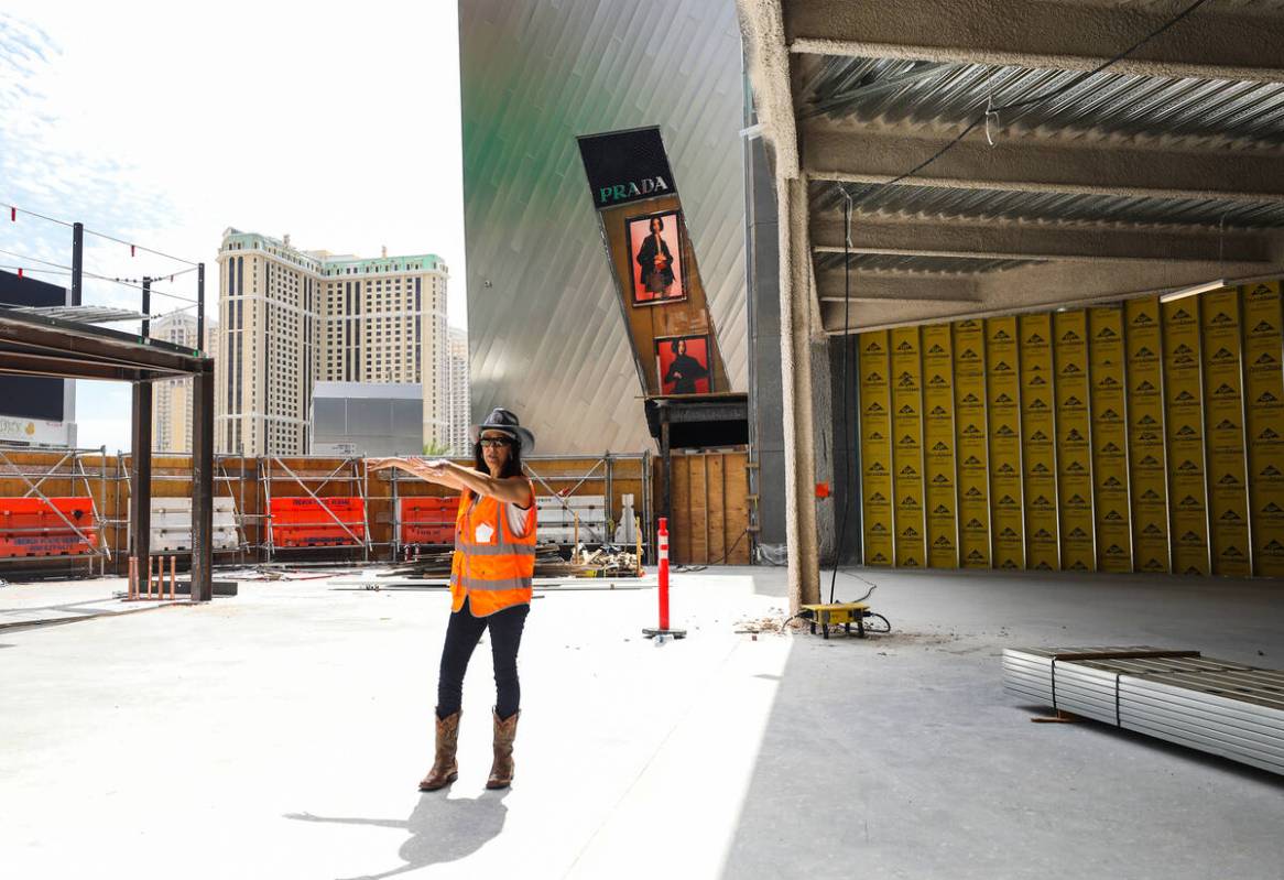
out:
{"label": "yellow-wrapped insulation strip on wall, second from the right end", "polygon": [[1239,290],[1204,294],[1204,438],[1213,574],[1252,574],[1248,486],[1244,473],[1244,398],[1239,361]]}

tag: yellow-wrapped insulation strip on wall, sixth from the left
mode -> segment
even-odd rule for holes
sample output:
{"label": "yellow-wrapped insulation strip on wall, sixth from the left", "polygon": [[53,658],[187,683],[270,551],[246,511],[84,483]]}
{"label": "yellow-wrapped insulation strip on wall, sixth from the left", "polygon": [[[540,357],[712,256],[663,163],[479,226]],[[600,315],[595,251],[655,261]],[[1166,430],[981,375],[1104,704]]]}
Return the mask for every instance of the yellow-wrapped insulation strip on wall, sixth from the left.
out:
{"label": "yellow-wrapped insulation strip on wall, sixth from the left", "polygon": [[1061,569],[1057,537],[1057,424],[1052,315],[1022,315],[1021,444],[1025,469],[1026,567]]}

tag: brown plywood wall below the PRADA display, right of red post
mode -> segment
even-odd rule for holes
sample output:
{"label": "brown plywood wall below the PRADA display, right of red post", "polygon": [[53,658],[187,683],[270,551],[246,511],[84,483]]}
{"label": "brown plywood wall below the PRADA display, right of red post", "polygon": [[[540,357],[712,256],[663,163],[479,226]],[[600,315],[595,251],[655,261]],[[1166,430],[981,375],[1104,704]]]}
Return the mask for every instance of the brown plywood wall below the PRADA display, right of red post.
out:
{"label": "brown plywood wall below the PRADA display, right of red post", "polygon": [[[672,560],[682,565],[750,564],[749,452],[673,453],[672,462]],[[663,466],[664,461],[656,460],[656,487]]]}

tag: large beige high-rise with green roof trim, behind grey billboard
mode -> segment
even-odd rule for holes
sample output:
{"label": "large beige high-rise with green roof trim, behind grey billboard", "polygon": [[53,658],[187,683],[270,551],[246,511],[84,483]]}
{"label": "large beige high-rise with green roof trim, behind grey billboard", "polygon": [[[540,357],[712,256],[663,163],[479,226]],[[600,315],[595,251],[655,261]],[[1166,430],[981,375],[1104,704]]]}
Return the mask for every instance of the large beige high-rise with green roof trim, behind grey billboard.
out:
{"label": "large beige high-rise with green roof trim, behind grey billboard", "polygon": [[324,380],[420,383],[424,442],[448,443],[448,279],[437,254],[358,260],[226,230],[216,451],[309,452],[312,388]]}

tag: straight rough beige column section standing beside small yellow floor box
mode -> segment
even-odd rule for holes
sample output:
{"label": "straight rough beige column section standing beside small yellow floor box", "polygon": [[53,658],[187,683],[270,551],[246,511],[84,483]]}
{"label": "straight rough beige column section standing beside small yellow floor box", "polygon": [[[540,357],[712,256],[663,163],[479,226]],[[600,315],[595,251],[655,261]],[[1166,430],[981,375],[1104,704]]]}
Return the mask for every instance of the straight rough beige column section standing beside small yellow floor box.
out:
{"label": "straight rough beige column section standing beside small yellow floor box", "polygon": [[777,182],[781,227],[781,392],[785,416],[785,523],[790,613],[819,600],[811,342],[820,326],[810,289],[806,181]]}

